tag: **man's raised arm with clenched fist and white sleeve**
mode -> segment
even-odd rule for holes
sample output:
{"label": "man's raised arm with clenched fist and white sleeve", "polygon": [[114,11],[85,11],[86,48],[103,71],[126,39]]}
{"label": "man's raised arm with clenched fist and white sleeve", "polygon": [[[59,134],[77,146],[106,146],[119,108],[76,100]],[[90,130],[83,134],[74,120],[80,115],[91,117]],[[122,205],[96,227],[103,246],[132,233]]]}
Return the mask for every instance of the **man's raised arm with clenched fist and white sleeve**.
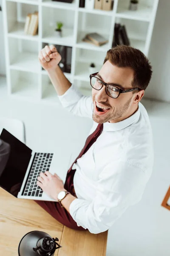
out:
{"label": "man's raised arm with clenched fist and white sleeve", "polygon": [[56,47],[53,45],[45,46],[38,57],[41,66],[48,73],[62,106],[74,115],[91,117],[93,111],[92,97],[83,96],[65,77],[58,66],[61,55],[57,52]]}

